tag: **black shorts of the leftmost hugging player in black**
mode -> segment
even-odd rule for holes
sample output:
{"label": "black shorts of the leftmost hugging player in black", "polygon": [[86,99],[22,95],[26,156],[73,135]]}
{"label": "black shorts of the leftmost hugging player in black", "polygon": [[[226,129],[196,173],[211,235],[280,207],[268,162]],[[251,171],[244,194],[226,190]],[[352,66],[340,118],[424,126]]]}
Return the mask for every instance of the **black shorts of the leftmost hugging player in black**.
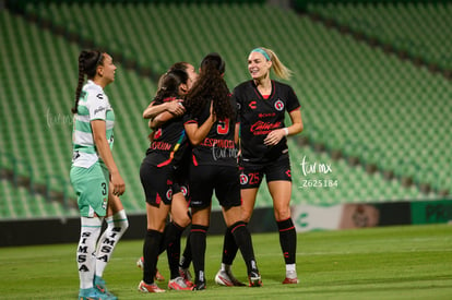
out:
{"label": "black shorts of the leftmost hugging player in black", "polygon": [[146,202],[151,205],[158,205],[162,201],[169,205],[174,194],[182,192],[187,196],[189,191],[187,180],[175,178],[173,165],[158,168],[144,159],[140,168],[140,179]]}

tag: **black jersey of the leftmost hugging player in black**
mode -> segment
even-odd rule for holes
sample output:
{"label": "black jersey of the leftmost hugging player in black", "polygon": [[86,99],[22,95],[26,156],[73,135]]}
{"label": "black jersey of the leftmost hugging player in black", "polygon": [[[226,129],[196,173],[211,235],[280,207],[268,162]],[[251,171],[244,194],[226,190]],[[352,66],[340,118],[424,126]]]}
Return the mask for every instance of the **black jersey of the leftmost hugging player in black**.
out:
{"label": "black jersey of the leftmost hugging player in black", "polygon": [[[165,101],[175,98],[166,98]],[[169,164],[179,164],[188,148],[188,140],[183,128],[183,117],[173,118],[157,128],[153,142],[146,152],[147,161],[163,167]],[[150,156],[150,154],[152,154]]]}

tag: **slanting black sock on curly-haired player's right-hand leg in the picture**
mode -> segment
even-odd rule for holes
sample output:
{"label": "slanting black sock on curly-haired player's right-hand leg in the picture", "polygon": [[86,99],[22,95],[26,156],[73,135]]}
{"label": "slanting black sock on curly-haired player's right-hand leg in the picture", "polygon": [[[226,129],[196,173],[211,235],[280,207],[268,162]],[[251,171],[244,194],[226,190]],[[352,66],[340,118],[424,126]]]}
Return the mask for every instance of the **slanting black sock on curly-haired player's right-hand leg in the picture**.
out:
{"label": "slanting black sock on curly-haired player's right-hand leg in the picture", "polygon": [[252,248],[251,235],[248,231],[247,224],[245,221],[237,221],[229,227],[230,232],[236,240],[245,263],[247,264],[248,274],[251,272],[259,273],[258,265],[254,260],[254,249]]}

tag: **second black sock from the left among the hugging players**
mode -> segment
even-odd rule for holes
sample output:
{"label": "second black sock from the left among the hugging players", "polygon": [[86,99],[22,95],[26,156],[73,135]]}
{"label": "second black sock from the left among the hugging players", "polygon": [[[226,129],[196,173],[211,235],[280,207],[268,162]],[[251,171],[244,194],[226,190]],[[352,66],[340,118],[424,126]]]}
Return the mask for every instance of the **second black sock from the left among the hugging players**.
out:
{"label": "second black sock from the left among the hugging players", "polygon": [[183,227],[180,227],[176,223],[169,223],[166,228],[165,235],[166,254],[168,256],[169,271],[171,273],[171,279],[179,276],[179,259],[180,259],[180,237],[183,232]]}

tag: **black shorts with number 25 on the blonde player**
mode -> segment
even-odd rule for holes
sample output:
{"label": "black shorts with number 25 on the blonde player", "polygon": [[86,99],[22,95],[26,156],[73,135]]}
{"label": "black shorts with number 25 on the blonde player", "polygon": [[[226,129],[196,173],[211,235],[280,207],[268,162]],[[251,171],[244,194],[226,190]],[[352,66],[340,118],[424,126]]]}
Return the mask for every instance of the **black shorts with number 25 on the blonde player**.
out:
{"label": "black shorts with number 25 on the blonde player", "polygon": [[241,189],[259,188],[264,176],[266,182],[292,181],[289,156],[283,155],[265,164],[240,161]]}

